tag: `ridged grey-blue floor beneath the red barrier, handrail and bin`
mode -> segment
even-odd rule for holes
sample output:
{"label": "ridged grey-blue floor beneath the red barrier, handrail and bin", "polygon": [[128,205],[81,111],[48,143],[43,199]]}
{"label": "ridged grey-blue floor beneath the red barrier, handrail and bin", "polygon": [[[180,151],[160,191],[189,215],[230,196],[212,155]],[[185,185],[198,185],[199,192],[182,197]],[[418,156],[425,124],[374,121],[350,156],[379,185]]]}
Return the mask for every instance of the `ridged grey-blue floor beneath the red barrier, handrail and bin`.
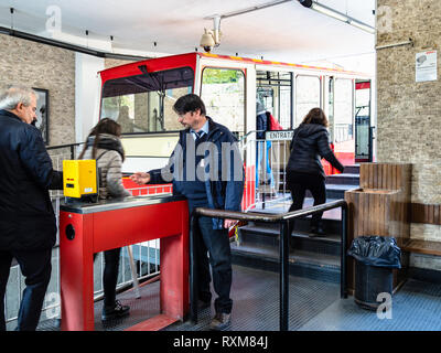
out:
{"label": "ridged grey-blue floor beneath the red barrier, handrail and bin", "polygon": [[[234,265],[232,331],[279,330],[279,275]],[[127,291],[118,296],[131,307],[130,317],[103,327],[101,302],[95,304],[97,331],[121,331],[159,313],[159,285],[141,287],[141,299]],[[340,299],[340,285],[304,277],[290,277],[291,331],[439,331],[441,330],[441,285],[409,279],[392,297],[392,319],[380,320],[373,311],[359,308],[353,297]],[[165,331],[205,331],[212,308],[198,313],[198,323],[176,322]],[[55,320],[41,322],[39,330],[57,331]]]}

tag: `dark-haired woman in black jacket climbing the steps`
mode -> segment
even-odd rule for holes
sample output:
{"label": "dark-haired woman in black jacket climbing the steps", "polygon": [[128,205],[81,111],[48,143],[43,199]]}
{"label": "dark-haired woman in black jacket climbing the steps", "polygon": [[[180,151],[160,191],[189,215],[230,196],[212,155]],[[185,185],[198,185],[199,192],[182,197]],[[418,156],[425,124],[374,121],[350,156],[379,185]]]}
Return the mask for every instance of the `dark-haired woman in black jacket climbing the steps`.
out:
{"label": "dark-haired woman in black jacket climbing the steps", "polygon": [[[327,118],[321,108],[313,108],[294,130],[290,145],[290,158],[287,165],[288,189],[292,204],[289,211],[302,208],[306,190],[314,197],[314,206],[326,202],[326,175],[322,158],[343,172],[344,167],[330,148]],[[322,213],[315,213],[311,220],[311,236],[325,235],[322,226]],[[293,223],[293,222],[292,222]],[[290,229],[293,224],[290,225]]]}

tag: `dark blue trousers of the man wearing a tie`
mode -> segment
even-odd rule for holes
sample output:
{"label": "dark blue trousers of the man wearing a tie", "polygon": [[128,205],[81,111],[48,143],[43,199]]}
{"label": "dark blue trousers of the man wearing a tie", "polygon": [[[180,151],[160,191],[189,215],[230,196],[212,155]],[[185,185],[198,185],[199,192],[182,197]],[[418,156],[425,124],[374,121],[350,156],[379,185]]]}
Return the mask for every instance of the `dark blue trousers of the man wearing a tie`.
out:
{"label": "dark blue trousers of the man wearing a tie", "polygon": [[[211,301],[209,265],[212,266],[213,287],[217,293],[214,301],[216,312],[232,312],[232,250],[229,247],[228,229],[213,229],[209,217],[198,217],[198,229],[195,229],[195,246],[197,256],[198,298]],[[207,257],[209,254],[209,260]],[[208,265],[209,264],[209,265]]]}

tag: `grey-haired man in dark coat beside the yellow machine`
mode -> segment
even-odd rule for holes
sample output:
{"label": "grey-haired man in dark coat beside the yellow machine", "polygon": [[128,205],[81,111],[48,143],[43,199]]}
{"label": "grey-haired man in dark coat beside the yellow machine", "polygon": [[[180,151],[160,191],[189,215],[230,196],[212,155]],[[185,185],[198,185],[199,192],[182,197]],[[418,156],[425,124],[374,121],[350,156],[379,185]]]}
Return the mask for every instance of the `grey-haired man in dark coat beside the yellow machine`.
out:
{"label": "grey-haired man in dark coat beside the yellow machine", "polygon": [[4,293],[12,258],[25,277],[19,331],[33,331],[51,279],[56,222],[49,189],[62,189],[39,129],[36,94],[26,87],[0,93],[0,331],[6,330]]}

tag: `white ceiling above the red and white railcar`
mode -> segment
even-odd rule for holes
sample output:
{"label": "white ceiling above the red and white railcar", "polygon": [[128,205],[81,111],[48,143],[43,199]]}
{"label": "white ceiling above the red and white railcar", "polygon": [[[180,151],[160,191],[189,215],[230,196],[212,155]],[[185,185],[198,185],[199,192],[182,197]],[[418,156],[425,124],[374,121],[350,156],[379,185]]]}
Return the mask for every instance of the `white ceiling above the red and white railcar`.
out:
{"label": "white ceiling above the red and white railcar", "polygon": [[[0,24],[115,53],[178,54],[195,51],[204,28],[213,28],[207,17],[268,2],[271,0],[0,0]],[[319,2],[375,26],[375,0]],[[46,14],[51,6],[60,9],[57,36],[46,31],[54,14]],[[13,14],[10,8],[15,9]],[[291,63],[329,61],[374,72],[374,34],[306,9],[297,0],[223,19],[220,31],[215,54]]]}

